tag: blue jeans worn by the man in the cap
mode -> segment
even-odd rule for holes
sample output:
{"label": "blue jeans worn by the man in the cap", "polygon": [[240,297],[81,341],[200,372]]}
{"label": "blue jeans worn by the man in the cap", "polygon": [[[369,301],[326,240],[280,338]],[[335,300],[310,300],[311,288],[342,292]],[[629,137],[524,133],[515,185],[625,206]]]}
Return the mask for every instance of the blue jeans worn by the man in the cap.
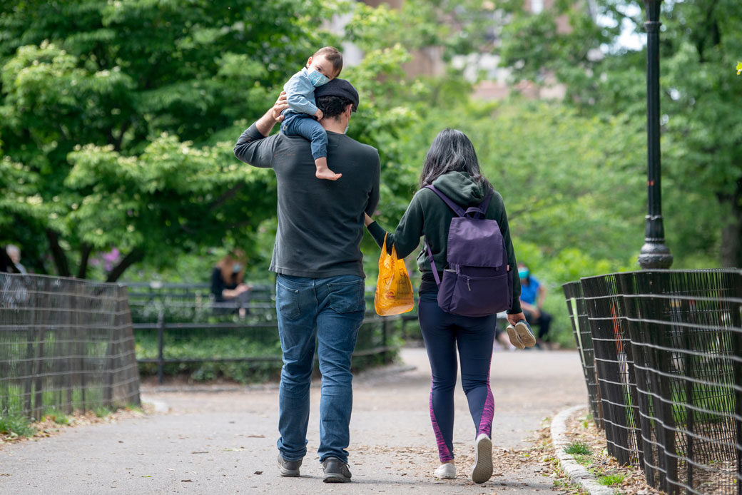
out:
{"label": "blue jeans worn by the man in the cap", "polygon": [[320,460],[348,461],[350,412],[353,406],[350,361],[364,321],[364,281],[356,275],[305,278],[278,275],[276,312],[283,350],[278,393],[277,445],[283,459],[306,455],[309,383],[315,345],[322,373]]}

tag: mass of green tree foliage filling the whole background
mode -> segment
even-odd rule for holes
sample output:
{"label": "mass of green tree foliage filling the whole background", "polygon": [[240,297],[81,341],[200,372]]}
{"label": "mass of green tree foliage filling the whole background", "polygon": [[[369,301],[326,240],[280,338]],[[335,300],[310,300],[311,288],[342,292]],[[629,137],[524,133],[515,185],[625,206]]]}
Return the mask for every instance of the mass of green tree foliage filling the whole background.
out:
{"label": "mass of green tree foliage filling the whole background", "polygon": [[[318,47],[353,42],[364,59],[342,73],[361,94],[349,136],[381,155],[380,223],[401,217],[433,137],[459,128],[505,198],[519,260],[563,313],[560,283],[638,269],[645,59],[617,40],[643,33],[639,7],[5,1],[0,243],[21,246],[33,272],[108,281],[206,282],[240,248],[249,278],[270,281],[275,177],[232,147]],[[349,18],[342,37],[328,29],[333,16]],[[742,85],[729,71],[741,18],[738,0],[663,3],[663,212],[677,269],[742,266]],[[448,63],[440,76],[408,76],[414,50],[431,46],[446,62],[496,54],[513,91],[473,99],[474,83]],[[528,99],[523,81],[563,84],[566,96]],[[378,248],[368,236],[362,247],[372,284]]]}

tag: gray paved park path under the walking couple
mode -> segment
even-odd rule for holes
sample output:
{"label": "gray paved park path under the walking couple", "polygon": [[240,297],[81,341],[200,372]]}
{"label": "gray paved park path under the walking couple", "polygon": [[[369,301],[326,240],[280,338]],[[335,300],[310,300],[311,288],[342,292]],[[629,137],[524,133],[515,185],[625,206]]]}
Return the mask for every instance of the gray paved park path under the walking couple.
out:
{"label": "gray paved park path under the walking couple", "polygon": [[[416,367],[364,373],[355,380],[349,465],[352,483],[321,481],[319,389],[312,388],[309,453],[301,478],[280,478],[275,466],[278,389],[218,393],[157,390],[144,401],[164,402],[166,414],[73,428],[39,442],[0,450],[0,494],[548,494],[553,481],[513,457],[484,485],[467,479],[473,461],[464,393],[456,391],[454,453],[459,479],[441,481],[428,416],[430,368],[425,351],[405,349]],[[585,404],[580,359],[574,352],[495,353],[493,452],[525,448],[542,419]],[[502,465],[502,463],[499,463]]]}

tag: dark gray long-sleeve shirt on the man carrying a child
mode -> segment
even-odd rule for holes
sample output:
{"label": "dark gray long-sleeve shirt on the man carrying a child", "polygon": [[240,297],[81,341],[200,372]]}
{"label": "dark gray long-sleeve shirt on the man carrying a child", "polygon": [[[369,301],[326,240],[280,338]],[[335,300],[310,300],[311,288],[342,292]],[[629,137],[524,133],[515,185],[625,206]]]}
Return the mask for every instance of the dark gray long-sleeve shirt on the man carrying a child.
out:
{"label": "dark gray long-sleeve shirt on the man carrying a child", "polygon": [[315,177],[309,141],[251,125],[234,146],[249,165],[273,168],[278,180],[278,232],[270,269],[282,275],[364,277],[361,239],[364,212],[378,204],[378,151],[344,134],[327,131],[327,164],[338,180]]}

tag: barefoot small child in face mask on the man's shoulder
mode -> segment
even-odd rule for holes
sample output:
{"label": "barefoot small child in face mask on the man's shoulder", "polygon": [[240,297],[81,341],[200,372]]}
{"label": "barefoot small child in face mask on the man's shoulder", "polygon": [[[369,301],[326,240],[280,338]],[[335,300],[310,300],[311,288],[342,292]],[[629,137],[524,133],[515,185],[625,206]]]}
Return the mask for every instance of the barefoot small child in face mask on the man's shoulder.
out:
{"label": "barefoot small child in face mask on the man's shoulder", "polygon": [[[326,85],[343,70],[343,56],[333,47],[322,47],[306,61],[306,67],[295,73],[283,91],[289,108],[283,111],[281,132],[286,136],[301,136],[312,142],[312,158],[315,159],[315,177],[338,180],[327,166],[327,134],[320,125],[324,117],[315,101],[315,88]],[[315,120],[316,119],[316,120]]]}

